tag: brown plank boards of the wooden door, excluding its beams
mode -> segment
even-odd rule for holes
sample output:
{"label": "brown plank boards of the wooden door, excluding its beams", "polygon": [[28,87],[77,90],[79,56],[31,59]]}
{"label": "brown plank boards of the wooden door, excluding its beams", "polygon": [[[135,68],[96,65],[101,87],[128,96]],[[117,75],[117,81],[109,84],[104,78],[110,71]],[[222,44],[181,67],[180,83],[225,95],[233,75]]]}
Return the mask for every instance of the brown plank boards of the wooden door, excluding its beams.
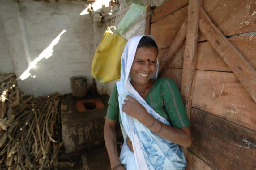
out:
{"label": "brown plank boards of the wooden door, excluding its beams", "polygon": [[[163,57],[187,18],[189,1],[169,0],[153,11],[150,34]],[[168,4],[171,4],[170,8]],[[256,70],[255,0],[203,0],[204,11]],[[245,34],[247,33],[247,34]],[[164,68],[181,88],[185,44]],[[256,103],[199,31],[186,169],[256,169]]]}

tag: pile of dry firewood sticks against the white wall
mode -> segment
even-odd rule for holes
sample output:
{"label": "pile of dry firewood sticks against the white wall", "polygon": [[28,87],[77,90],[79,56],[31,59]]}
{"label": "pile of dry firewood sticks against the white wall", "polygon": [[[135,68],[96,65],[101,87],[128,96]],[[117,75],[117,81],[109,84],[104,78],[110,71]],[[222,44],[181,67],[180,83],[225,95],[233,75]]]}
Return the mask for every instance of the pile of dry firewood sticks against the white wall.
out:
{"label": "pile of dry firewood sticks against the white wall", "polygon": [[15,74],[0,74],[0,169],[51,168],[63,144],[61,96],[34,98],[16,83]]}

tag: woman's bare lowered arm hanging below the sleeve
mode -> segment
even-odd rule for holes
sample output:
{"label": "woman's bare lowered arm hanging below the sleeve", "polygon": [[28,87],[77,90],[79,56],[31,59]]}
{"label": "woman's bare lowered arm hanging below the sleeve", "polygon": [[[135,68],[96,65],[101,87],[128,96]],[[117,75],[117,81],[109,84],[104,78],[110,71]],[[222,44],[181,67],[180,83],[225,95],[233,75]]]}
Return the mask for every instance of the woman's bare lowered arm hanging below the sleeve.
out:
{"label": "woman's bare lowered arm hanging below the sleeve", "polygon": [[[115,130],[116,122],[117,121],[106,118],[104,125],[104,140],[108,151],[111,168],[114,168],[118,164],[121,164],[117,152],[117,139]],[[116,170],[119,169],[124,169],[124,167],[120,166],[116,168]]]}

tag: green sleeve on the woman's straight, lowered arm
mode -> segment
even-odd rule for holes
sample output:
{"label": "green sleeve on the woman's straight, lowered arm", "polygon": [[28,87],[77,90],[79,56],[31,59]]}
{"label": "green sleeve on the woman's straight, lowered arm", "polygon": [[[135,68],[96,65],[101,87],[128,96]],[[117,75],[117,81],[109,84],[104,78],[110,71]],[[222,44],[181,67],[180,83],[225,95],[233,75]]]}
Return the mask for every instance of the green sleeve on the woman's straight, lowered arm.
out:
{"label": "green sleeve on the woman's straight, lowered arm", "polygon": [[119,111],[118,105],[118,92],[117,92],[117,85],[114,86],[111,96],[109,97],[109,107],[107,110],[106,118],[111,120],[117,120]]}

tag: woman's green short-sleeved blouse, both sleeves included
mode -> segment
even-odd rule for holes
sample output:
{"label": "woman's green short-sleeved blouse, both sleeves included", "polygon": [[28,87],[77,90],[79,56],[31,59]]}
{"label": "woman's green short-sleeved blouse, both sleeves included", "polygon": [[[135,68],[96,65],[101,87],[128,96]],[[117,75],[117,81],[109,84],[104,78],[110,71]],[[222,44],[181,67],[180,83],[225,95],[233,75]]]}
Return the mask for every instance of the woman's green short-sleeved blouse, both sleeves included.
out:
{"label": "woman's green short-sleeved blouse, both sleeves included", "polygon": [[[158,114],[169,121],[172,126],[177,128],[190,126],[180,91],[172,79],[157,79],[147,95],[146,102]],[[111,120],[117,120],[117,116],[122,125],[118,105],[118,91],[115,85],[109,98],[106,117]]]}

